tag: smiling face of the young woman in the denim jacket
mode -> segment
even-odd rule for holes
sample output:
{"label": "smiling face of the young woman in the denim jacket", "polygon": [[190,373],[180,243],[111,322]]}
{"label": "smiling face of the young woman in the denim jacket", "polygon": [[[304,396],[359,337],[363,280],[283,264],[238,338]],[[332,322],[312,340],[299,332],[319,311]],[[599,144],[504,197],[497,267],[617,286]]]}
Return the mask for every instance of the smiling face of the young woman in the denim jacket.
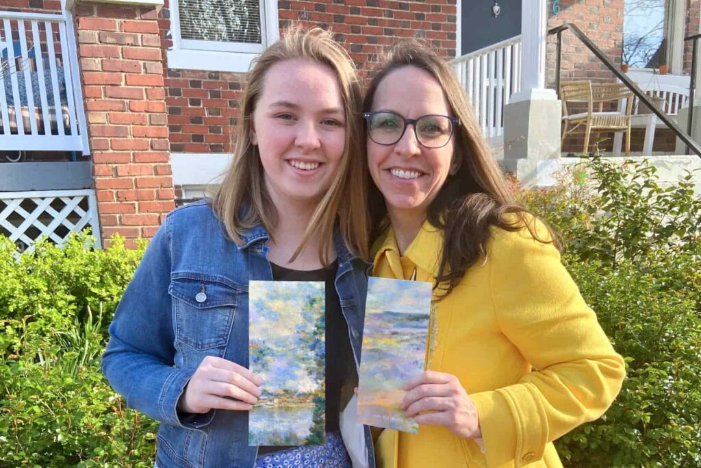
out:
{"label": "smiling face of the young woman in the denim jacket", "polygon": [[275,63],[266,72],[252,117],[250,140],[258,146],[275,206],[315,207],[341,167],[346,143],[333,70],[306,60]]}

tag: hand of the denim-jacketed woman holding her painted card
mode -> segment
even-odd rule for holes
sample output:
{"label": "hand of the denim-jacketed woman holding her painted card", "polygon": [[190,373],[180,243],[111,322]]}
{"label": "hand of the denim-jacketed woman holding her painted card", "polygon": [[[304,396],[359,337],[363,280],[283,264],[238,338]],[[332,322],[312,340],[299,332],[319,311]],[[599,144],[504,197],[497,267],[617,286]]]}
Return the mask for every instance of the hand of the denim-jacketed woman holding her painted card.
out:
{"label": "hand of the denim-jacketed woman holding her painted card", "polygon": [[261,377],[235,362],[207,356],[180,396],[178,410],[185,413],[207,413],[215,408],[250,410],[261,396],[261,382]]}

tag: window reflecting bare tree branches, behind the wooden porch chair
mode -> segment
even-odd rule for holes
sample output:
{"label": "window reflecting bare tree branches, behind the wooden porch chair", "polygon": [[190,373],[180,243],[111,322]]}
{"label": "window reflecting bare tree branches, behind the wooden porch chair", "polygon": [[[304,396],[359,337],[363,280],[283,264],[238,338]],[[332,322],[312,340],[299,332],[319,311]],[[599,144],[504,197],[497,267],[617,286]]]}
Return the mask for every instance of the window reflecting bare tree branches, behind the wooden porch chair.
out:
{"label": "window reflecting bare tree branches, behind the wooden porch chair", "polygon": [[686,1],[625,0],[623,5],[622,62],[642,69],[668,65],[680,73]]}

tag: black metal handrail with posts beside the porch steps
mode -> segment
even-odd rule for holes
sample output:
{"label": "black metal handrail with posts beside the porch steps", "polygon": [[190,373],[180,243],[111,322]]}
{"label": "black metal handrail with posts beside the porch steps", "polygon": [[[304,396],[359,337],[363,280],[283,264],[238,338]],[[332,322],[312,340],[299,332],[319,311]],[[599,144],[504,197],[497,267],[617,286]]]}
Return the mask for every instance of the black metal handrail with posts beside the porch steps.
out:
{"label": "black metal handrail with posts beside the porch steps", "polygon": [[[634,81],[629,79],[628,76],[626,76],[626,74],[620,72],[618,67],[616,67],[613,64],[611,59],[609,59],[606,56],[606,54],[604,54],[604,52],[601,51],[601,49],[599,47],[597,47],[597,45],[594,44],[592,42],[592,40],[589,39],[589,37],[587,37],[586,34],[584,34],[584,32],[582,32],[581,29],[579,29],[576,25],[573,25],[570,22],[566,22],[563,25],[560,25],[558,27],[554,27],[554,28],[550,29],[550,31],[547,32],[547,34],[557,34],[557,65],[556,65],[556,71],[555,71],[555,91],[557,91],[558,97],[559,97],[559,93],[560,93],[560,65],[562,64],[562,32],[564,32],[566,29],[569,29],[572,32],[572,34],[574,34],[577,37],[577,39],[582,41],[583,44],[585,46],[587,46],[587,48],[590,51],[592,51],[592,53],[594,53],[594,55],[596,55],[597,58],[599,60],[601,60],[602,63],[604,63],[604,65],[606,65],[606,68],[610,69],[611,72],[613,72],[613,74],[618,79],[620,79],[620,81],[622,83],[624,83],[625,86],[627,86],[627,88],[629,88],[629,90],[632,91],[633,94],[636,95],[639,100],[641,100],[641,102],[644,102],[645,105],[647,105],[648,109],[650,109],[650,111],[653,112],[653,114],[658,116],[658,119],[660,119],[660,121],[664,122],[665,125],[674,132],[674,134],[677,136],[677,138],[679,138],[679,140],[681,140],[684,143],[684,145],[686,145],[687,154],[688,154],[688,151],[690,149],[697,156],[699,156],[701,158],[701,146],[698,145],[698,143],[695,142],[688,134],[684,133],[681,130],[681,128],[674,121],[669,119],[669,116],[667,116],[667,114],[665,114],[665,112],[662,112],[660,109],[657,108],[657,106],[653,105],[653,102],[649,99],[648,95],[646,95],[644,93],[644,91],[642,91]],[[697,36],[701,36],[701,34],[697,34]],[[697,37],[697,36],[690,36],[686,39],[693,39],[694,37]],[[696,46],[695,39],[694,39],[694,46]],[[694,48],[694,51],[696,51],[696,48]],[[693,79],[694,79],[693,75],[695,74],[695,68],[696,68],[695,65],[696,65],[696,60],[695,60],[695,55],[694,55],[693,56],[692,72],[691,72],[692,73],[692,76],[691,76],[692,83],[693,83]],[[692,99],[693,99],[693,94],[690,91],[690,93],[689,93],[690,111],[693,110],[693,100]],[[693,114],[693,112],[689,112],[689,113]],[[689,121],[691,121],[691,120],[689,120]]]}

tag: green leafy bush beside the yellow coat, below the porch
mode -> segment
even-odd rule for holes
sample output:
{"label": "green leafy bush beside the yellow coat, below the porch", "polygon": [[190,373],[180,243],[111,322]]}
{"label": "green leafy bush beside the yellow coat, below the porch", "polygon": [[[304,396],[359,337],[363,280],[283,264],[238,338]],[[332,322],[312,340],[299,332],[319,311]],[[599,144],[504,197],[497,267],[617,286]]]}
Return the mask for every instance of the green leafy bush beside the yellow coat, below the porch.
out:
{"label": "green leafy bush beside the yellow coat, below the porch", "polygon": [[606,415],[558,451],[570,467],[701,466],[701,197],[690,175],[661,187],[646,161],[583,170],[586,185],[519,195],[562,235],[627,378]]}

